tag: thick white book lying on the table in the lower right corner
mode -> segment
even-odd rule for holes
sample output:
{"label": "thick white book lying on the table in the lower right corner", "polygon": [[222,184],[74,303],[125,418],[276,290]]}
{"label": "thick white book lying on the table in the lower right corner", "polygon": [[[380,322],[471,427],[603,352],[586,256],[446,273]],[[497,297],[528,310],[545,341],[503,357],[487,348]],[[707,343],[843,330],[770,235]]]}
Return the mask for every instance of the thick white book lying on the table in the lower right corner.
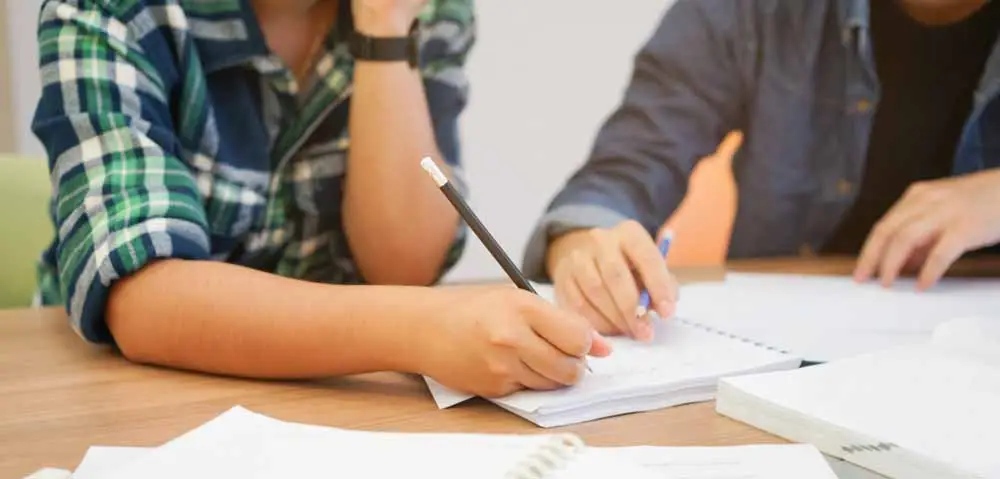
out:
{"label": "thick white book lying on the table in the lower right corner", "polygon": [[1000,477],[1000,321],[923,343],[721,381],[717,410],[889,477]]}

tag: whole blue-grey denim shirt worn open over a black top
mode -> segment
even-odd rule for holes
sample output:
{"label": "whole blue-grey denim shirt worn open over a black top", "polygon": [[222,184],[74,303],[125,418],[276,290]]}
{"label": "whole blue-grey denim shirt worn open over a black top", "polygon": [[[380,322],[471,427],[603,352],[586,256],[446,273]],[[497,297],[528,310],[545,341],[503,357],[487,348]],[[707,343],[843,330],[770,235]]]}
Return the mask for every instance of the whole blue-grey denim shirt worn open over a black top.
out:
{"label": "whole blue-grey denim shirt worn open over a black top", "polygon": [[[636,56],[590,158],[532,234],[525,274],[547,279],[549,239],[568,230],[634,219],[654,234],[699,159],[737,130],[729,256],[821,248],[855,200],[879,101],[868,17],[867,0],[678,0]],[[954,175],[1000,165],[998,89],[994,46]]]}

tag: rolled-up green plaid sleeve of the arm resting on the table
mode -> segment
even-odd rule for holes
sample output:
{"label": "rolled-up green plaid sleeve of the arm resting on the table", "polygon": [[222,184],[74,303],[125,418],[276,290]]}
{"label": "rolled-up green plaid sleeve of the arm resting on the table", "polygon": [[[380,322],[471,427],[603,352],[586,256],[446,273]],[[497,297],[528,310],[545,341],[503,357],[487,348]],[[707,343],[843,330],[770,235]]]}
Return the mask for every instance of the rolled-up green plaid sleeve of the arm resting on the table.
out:
{"label": "rolled-up green plaid sleeve of the arm resting on the table", "polygon": [[100,343],[113,342],[114,281],[157,258],[209,257],[198,190],[172,151],[169,89],[111,3],[43,5],[32,125],[49,159],[60,293],[74,329]]}

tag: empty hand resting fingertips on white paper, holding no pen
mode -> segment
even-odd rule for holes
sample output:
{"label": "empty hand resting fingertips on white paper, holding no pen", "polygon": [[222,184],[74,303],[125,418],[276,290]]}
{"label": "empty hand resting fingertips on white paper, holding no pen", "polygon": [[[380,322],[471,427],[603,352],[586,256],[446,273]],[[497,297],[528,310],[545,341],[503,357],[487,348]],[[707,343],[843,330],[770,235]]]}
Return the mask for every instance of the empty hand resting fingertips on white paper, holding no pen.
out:
{"label": "empty hand resting fingertips on white paper, holding no pen", "polygon": [[869,234],[854,271],[890,286],[907,266],[933,286],[962,253],[1000,242],[1000,171],[916,183]]}

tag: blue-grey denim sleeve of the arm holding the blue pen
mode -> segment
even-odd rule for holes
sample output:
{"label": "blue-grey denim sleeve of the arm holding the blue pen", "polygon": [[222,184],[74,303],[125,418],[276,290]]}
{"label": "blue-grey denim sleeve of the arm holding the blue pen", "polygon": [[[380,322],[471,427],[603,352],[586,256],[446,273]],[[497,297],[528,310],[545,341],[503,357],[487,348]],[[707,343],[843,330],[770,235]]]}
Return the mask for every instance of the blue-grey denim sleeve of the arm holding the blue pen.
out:
{"label": "blue-grey denim sleeve of the arm holding the blue pen", "polygon": [[549,205],[528,242],[525,274],[546,281],[550,239],[634,219],[655,234],[677,208],[699,159],[742,111],[736,68],[738,4],[678,0],[634,60],[624,99],[590,158]]}

